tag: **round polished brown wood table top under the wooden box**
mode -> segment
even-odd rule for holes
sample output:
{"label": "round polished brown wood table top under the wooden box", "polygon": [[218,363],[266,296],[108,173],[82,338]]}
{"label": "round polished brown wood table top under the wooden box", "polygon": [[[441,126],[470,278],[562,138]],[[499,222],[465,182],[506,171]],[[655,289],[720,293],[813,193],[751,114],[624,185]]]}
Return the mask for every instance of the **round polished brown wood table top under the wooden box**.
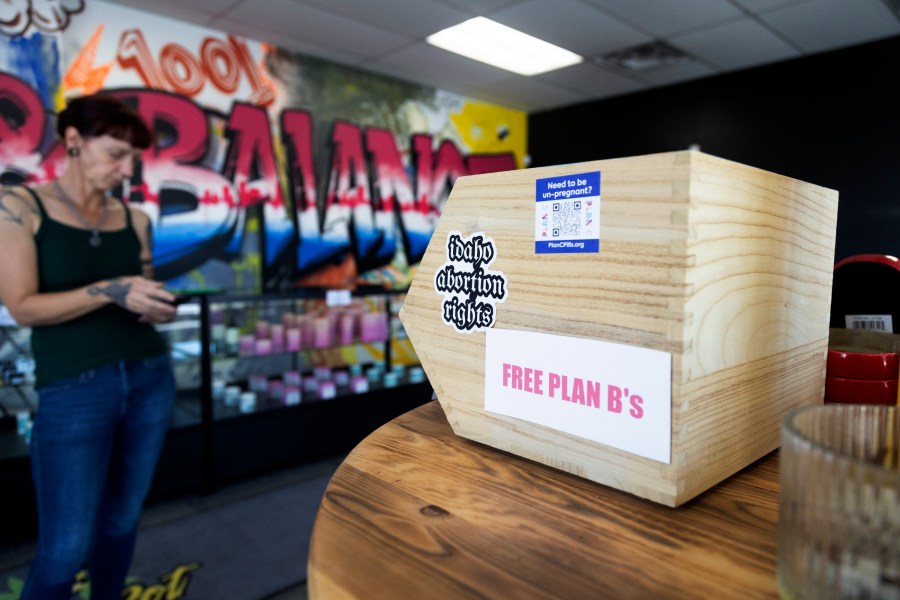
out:
{"label": "round polished brown wood table top under the wooden box", "polygon": [[455,435],[434,401],[325,490],[309,596],[776,598],[777,452],[668,508]]}

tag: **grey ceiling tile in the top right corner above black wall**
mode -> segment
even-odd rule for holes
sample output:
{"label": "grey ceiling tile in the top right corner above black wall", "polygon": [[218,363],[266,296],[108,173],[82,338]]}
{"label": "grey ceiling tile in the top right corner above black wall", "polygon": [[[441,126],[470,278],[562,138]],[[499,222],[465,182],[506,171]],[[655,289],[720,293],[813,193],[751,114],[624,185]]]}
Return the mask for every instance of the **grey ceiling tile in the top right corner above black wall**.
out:
{"label": "grey ceiling tile in the top right corner above black wall", "polygon": [[805,52],[821,52],[900,34],[900,20],[882,0],[812,0],[760,19]]}

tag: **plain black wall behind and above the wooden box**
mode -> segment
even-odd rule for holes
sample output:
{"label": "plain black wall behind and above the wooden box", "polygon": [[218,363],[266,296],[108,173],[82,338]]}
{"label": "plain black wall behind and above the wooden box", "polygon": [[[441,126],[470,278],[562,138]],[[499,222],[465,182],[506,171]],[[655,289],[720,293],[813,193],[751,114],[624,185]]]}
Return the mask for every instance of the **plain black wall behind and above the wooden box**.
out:
{"label": "plain black wall behind and above the wooden box", "polygon": [[900,37],[529,116],[532,166],[688,148],[840,192],[836,260],[900,256]]}

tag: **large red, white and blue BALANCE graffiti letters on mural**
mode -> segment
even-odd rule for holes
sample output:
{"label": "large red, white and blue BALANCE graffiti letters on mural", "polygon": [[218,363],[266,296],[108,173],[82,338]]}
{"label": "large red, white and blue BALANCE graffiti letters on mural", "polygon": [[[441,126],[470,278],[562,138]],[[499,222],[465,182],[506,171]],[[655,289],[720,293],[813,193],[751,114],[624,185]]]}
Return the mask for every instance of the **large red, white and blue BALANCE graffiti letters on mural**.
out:
{"label": "large red, white and blue BALANCE graffiti letters on mural", "polygon": [[[512,153],[467,156],[450,140],[435,148],[431,134],[418,133],[407,166],[393,132],[335,121],[320,187],[307,111],[283,109],[276,133],[257,104],[235,102],[223,114],[165,90],[107,91],[135,106],[157,134],[117,195],[150,215],[156,271],[167,280],[254,251],[263,289],[348,259],[357,274],[398,252],[416,264],[458,177],[516,168]],[[53,122],[37,92],[0,72],[0,182],[35,183],[61,171]]]}

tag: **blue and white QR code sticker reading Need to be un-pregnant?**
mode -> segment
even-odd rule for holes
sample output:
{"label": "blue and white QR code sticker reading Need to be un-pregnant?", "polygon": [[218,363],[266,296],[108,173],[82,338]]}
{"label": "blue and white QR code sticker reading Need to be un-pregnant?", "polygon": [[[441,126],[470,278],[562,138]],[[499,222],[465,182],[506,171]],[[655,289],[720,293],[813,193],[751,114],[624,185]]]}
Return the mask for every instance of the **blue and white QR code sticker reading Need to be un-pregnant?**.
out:
{"label": "blue and white QR code sticker reading Need to be un-pregnant?", "polygon": [[600,251],[600,171],[535,182],[535,254]]}

